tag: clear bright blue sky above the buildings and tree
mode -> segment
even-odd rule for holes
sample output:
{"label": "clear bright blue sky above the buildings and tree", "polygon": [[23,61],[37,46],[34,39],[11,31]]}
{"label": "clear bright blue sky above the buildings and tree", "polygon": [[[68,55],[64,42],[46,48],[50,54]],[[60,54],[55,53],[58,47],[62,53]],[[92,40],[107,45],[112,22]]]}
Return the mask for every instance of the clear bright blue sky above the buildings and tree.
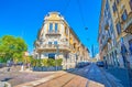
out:
{"label": "clear bright blue sky above the buildings and tree", "polygon": [[0,0],[0,36],[21,36],[32,52],[44,17],[58,11],[90,50],[98,46],[100,9],[101,0]]}

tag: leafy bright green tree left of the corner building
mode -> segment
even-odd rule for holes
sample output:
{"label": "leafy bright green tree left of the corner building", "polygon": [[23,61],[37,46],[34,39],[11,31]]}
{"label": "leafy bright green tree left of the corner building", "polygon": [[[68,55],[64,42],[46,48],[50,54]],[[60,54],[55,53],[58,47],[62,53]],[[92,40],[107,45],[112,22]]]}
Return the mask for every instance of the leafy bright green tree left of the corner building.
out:
{"label": "leafy bright green tree left of the corner building", "polygon": [[0,39],[0,57],[4,58],[4,61],[22,61],[23,53],[26,50],[28,45],[21,37],[4,35]]}

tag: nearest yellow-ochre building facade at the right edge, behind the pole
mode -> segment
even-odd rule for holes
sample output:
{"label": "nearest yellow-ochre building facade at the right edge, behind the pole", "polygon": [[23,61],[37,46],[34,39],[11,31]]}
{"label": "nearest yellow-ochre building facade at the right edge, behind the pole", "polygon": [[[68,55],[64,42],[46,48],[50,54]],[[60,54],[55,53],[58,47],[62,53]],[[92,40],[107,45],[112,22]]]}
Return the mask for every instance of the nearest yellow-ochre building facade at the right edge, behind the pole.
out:
{"label": "nearest yellow-ochre building facade at the right edge, behind the pole", "polygon": [[[121,43],[123,41],[128,51],[125,58],[132,67],[132,55],[130,52],[130,45],[132,45],[132,33],[127,33],[128,30],[132,32],[132,0],[109,0],[109,4],[116,32],[120,66],[124,67],[124,61],[121,54]],[[116,8],[114,10],[113,7]],[[120,28],[118,28],[118,25]]]}

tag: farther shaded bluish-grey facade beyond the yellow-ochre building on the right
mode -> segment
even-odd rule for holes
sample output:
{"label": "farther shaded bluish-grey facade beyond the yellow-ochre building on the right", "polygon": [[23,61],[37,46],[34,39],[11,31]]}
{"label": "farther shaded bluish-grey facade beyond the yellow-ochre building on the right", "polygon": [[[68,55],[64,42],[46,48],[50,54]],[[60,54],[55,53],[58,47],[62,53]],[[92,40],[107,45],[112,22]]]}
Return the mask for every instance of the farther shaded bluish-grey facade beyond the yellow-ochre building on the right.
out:
{"label": "farther shaded bluish-grey facade beyond the yellow-ochre building on the right", "polygon": [[109,66],[118,66],[116,50],[116,33],[113,30],[112,17],[110,13],[109,0],[102,0],[100,23],[99,23],[99,55],[102,61]]}

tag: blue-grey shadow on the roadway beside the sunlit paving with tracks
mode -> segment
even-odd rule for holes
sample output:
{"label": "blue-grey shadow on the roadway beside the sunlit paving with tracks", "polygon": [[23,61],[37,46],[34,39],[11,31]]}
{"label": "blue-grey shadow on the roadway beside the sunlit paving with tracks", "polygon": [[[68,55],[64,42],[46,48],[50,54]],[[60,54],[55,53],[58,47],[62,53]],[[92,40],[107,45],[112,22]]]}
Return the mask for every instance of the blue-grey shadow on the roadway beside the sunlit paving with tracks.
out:
{"label": "blue-grey shadow on the roadway beside the sunlit paving with tracks", "polygon": [[103,68],[99,68],[96,64],[90,64],[82,68],[70,68],[66,70],[68,73],[79,75],[87,78],[88,80],[103,85],[105,87],[123,87],[120,80],[109,73],[105,72]]}

